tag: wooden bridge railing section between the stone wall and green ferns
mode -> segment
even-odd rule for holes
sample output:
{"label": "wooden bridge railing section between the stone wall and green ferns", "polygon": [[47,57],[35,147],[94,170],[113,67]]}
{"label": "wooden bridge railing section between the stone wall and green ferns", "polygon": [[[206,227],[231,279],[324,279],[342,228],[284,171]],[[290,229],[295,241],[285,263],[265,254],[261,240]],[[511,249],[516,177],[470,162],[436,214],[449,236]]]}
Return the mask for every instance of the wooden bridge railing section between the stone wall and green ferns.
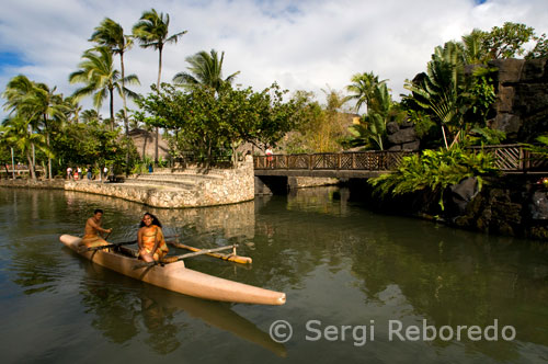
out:
{"label": "wooden bridge railing section between the stone wall and green ferns", "polygon": [[370,150],[338,153],[299,153],[255,156],[255,169],[292,170],[369,170],[387,171],[395,169],[406,156],[415,151]]}

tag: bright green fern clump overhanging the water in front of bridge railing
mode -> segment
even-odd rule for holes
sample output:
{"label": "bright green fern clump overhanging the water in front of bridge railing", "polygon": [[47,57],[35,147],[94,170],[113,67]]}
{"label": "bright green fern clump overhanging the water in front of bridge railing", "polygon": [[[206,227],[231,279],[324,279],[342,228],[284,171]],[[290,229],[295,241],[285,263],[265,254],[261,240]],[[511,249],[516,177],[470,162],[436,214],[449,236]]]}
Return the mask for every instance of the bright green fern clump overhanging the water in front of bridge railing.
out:
{"label": "bright green fern clump overhanging the water in front of bridge railing", "polygon": [[443,192],[446,187],[476,177],[481,190],[484,177],[496,171],[491,155],[455,147],[448,150],[427,149],[422,155],[404,157],[396,171],[368,181],[381,195],[401,195],[422,190],[438,193],[443,209]]}

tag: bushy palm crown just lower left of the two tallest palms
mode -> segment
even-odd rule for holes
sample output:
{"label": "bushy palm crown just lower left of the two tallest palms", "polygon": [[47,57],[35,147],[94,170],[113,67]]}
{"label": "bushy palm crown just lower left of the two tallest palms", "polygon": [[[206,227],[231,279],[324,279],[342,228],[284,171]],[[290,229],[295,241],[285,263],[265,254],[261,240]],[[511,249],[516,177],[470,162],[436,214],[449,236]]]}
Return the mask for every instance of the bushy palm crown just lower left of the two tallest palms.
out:
{"label": "bushy palm crown just lower left of the two tallest palms", "polygon": [[83,88],[76,90],[73,96],[80,99],[93,94],[93,105],[98,113],[104,99],[110,99],[111,129],[114,130],[114,91],[116,90],[121,96],[125,94],[136,99],[139,95],[123,87],[122,83],[140,83],[135,75],[121,78],[119,71],[113,66],[112,56],[111,50],[106,47],[85,50],[82,56],[84,60],[78,65],[80,69],[70,73],[69,81],[70,83],[87,83]]}

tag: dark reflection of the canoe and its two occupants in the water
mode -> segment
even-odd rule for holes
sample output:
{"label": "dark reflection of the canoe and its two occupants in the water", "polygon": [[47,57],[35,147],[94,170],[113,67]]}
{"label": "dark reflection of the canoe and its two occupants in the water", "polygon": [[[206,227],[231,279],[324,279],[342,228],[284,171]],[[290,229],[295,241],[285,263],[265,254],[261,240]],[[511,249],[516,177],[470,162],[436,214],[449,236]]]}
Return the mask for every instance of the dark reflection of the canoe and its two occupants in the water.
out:
{"label": "dark reflection of the canoe and its two occupants in the water", "polygon": [[[67,250],[67,253],[79,257]],[[254,323],[236,314],[231,305],[174,294],[82,261],[87,272],[80,295],[85,312],[94,315],[92,326],[113,342],[123,344],[145,327],[147,343],[158,354],[168,354],[183,342],[191,342],[195,328],[181,314],[202,320],[264,348],[278,356],[286,355],[283,344]]]}

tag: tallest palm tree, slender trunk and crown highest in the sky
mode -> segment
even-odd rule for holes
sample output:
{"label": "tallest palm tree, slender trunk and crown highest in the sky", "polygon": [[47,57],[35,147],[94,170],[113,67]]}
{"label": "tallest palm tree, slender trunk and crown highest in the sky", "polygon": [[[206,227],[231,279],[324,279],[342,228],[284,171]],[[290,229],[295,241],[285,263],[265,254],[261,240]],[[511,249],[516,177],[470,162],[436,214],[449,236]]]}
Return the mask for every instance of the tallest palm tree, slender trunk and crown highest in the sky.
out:
{"label": "tallest palm tree, slender trunk and crown highest in the sky", "polygon": [[[183,36],[186,31],[175,33],[168,36],[170,24],[170,15],[159,13],[151,9],[145,11],[140,16],[137,24],[133,27],[134,36],[139,41],[142,48],[153,48],[158,50],[158,81],[156,82],[157,91],[160,91],[160,79],[162,75],[162,50],[163,46],[169,43],[176,43],[181,36]],[[156,128],[156,151],[155,161],[158,162],[158,138],[160,133],[158,127]]]}

